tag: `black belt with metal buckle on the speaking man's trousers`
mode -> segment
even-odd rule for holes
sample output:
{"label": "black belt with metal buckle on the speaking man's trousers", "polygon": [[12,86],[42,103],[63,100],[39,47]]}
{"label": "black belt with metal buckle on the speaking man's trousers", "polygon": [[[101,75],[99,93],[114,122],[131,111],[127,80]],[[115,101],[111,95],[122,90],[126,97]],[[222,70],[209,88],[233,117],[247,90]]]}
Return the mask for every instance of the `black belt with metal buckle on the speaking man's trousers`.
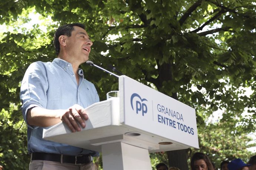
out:
{"label": "black belt with metal buckle on the speaking man's trousers", "polygon": [[48,160],[60,163],[72,163],[75,165],[86,164],[92,162],[91,155],[77,155],[69,156],[63,154],[55,153],[43,153],[43,152],[33,152],[31,160]]}

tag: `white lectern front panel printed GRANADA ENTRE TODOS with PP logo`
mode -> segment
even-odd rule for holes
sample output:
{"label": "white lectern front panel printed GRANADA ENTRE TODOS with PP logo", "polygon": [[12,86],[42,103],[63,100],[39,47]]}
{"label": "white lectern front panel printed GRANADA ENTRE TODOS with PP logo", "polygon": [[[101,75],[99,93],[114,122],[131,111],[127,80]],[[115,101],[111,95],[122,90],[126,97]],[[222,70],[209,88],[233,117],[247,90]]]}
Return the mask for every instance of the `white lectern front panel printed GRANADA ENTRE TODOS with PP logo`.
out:
{"label": "white lectern front panel printed GRANADA ENTRE TODOS with PP logo", "polygon": [[198,148],[195,109],[127,76],[119,78],[119,85],[125,106],[120,123]]}

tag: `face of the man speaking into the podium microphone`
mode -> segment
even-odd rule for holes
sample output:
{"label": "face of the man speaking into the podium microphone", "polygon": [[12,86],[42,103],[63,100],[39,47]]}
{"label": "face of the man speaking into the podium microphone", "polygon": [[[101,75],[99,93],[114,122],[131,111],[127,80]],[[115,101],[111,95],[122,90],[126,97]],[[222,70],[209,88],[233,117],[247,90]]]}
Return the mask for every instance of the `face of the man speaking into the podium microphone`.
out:
{"label": "face of the man speaking into the podium microphone", "polygon": [[66,38],[66,43],[66,52],[72,57],[70,59],[80,64],[89,59],[92,41],[83,28],[74,26],[71,36]]}

